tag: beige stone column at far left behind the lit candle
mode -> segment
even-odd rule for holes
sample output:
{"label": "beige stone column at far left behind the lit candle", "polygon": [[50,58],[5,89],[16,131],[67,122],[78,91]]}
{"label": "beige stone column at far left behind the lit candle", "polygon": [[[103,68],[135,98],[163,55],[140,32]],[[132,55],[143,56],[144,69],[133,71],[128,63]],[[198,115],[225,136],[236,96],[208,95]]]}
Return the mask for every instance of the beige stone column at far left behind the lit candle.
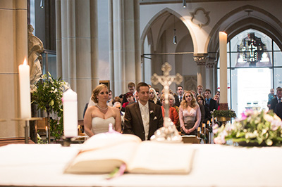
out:
{"label": "beige stone column at far left behind the lit candle", "polygon": [[0,1],[0,138],[24,137],[20,117],[18,65],[27,58],[27,0]]}

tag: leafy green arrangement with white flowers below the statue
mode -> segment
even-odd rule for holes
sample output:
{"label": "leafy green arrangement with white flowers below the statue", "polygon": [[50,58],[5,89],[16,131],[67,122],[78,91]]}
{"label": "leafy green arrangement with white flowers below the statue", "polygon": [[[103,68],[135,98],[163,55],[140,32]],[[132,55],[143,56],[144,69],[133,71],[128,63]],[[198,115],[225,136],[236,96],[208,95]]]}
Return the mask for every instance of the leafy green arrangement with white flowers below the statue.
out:
{"label": "leafy green arrangement with white flowers below the statue", "polygon": [[63,91],[68,89],[68,84],[59,79],[54,79],[51,74],[42,75],[37,84],[33,87],[32,103],[37,104],[37,110],[41,109],[47,112],[47,118],[50,114],[55,117],[48,119],[50,124],[50,136],[55,140],[63,135],[63,105],[61,98]]}

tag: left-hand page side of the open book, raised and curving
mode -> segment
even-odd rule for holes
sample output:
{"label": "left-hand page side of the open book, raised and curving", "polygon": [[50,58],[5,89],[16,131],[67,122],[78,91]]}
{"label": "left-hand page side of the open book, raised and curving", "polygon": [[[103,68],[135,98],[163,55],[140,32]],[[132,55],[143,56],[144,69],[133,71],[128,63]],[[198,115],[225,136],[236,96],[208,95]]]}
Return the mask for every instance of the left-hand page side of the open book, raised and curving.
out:
{"label": "left-hand page side of the open book, raised and curving", "polygon": [[65,172],[109,173],[131,160],[141,142],[132,134],[97,134],[82,145],[82,150],[71,161]]}

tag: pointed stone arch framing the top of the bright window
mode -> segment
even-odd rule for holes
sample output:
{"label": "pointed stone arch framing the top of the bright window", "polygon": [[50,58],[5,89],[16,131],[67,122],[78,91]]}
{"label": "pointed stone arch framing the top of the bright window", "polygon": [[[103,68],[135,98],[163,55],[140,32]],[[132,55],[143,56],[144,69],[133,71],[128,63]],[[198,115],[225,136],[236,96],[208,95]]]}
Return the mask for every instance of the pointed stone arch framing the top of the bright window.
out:
{"label": "pointed stone arch framing the top of the bright window", "polygon": [[[239,15],[242,13],[244,15]],[[240,19],[238,19],[238,15],[241,17]],[[231,22],[233,22],[232,25],[230,25]],[[251,28],[264,32],[264,34],[274,39],[282,49],[282,33],[278,31],[282,29],[282,22],[264,9],[251,5],[236,8],[224,15],[210,32],[205,49],[208,52],[219,51],[219,31],[226,32],[229,41],[243,30]],[[216,57],[217,55],[209,53],[209,56]]]}

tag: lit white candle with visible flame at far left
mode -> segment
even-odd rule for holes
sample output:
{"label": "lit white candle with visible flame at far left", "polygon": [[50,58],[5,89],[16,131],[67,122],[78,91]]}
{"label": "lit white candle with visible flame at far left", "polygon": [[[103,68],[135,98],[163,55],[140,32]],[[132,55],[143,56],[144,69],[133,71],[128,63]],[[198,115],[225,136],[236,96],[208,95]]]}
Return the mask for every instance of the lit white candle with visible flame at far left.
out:
{"label": "lit white candle with visible flame at far left", "polygon": [[20,81],[20,117],[31,117],[30,103],[30,66],[27,65],[26,59],[22,65],[18,66],[19,81]]}

